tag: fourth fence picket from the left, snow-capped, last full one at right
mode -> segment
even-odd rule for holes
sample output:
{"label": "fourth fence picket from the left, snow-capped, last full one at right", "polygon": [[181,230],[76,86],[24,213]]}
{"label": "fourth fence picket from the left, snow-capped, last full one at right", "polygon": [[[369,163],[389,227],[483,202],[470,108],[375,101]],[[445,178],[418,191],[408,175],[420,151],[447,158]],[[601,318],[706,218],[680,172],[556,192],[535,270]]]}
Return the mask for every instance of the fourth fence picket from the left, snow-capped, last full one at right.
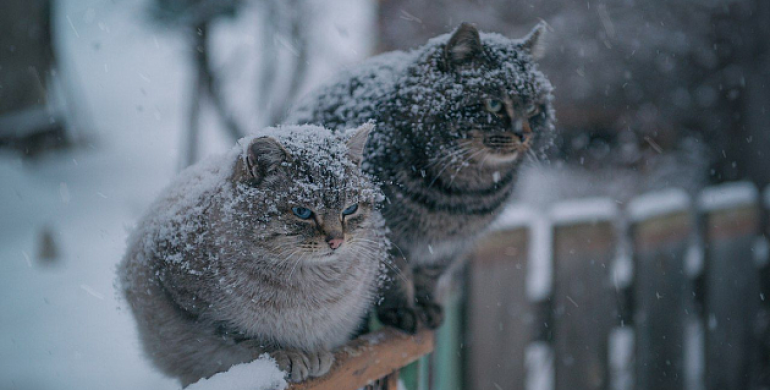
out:
{"label": "fourth fence picket from the left, snow-capped, last full one at right", "polygon": [[699,198],[706,241],[704,307],[706,388],[750,389],[759,360],[754,328],[761,298],[754,248],[758,193],[751,183],[704,190]]}

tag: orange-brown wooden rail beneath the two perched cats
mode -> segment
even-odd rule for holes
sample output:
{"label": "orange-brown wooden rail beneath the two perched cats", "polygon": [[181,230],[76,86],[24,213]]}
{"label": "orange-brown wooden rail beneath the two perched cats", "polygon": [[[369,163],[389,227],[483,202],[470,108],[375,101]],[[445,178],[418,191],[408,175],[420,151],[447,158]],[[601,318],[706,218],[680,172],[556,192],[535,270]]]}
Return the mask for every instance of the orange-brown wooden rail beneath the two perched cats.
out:
{"label": "orange-brown wooden rail beneath the two perched cats", "polygon": [[335,353],[331,371],[294,384],[292,390],[355,390],[383,378],[433,351],[433,333],[410,336],[384,328],[351,341]]}

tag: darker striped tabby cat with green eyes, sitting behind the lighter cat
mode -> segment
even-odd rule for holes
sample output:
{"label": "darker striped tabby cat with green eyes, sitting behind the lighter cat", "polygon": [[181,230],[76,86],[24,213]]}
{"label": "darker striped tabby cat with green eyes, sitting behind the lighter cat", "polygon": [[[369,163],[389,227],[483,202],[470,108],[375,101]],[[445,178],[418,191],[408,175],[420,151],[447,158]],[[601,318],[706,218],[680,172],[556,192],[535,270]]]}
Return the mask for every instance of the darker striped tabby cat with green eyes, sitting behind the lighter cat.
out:
{"label": "darker striped tabby cat with green eyes, sitting behind the lighter cat", "polygon": [[331,128],[377,124],[364,169],[382,183],[403,274],[385,286],[382,322],[410,332],[441,324],[437,279],[501,211],[525,155],[546,144],[552,88],[534,62],[544,30],[510,40],[462,24],[364,62],[292,113],[291,122]]}

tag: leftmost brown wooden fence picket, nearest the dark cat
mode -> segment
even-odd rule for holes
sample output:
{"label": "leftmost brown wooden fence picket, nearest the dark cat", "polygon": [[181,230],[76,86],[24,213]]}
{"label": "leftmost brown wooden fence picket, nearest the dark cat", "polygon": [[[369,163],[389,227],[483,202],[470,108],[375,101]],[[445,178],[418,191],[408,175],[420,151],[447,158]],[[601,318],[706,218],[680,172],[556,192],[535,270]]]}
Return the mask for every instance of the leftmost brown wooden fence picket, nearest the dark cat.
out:
{"label": "leftmost brown wooden fence picket, nearest the dark cat", "polygon": [[524,351],[534,328],[526,295],[529,236],[527,228],[508,229],[477,245],[467,292],[468,389],[524,389]]}

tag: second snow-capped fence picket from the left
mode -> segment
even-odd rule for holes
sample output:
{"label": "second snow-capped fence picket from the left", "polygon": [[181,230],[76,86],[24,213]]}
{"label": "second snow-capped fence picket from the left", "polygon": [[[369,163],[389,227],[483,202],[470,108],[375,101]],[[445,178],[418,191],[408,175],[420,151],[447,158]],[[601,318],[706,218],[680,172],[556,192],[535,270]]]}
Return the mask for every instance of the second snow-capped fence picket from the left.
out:
{"label": "second snow-capped fence picket from the left", "polygon": [[615,203],[604,198],[560,203],[550,214],[556,390],[609,387],[608,336],[617,316],[609,277],[616,216]]}

